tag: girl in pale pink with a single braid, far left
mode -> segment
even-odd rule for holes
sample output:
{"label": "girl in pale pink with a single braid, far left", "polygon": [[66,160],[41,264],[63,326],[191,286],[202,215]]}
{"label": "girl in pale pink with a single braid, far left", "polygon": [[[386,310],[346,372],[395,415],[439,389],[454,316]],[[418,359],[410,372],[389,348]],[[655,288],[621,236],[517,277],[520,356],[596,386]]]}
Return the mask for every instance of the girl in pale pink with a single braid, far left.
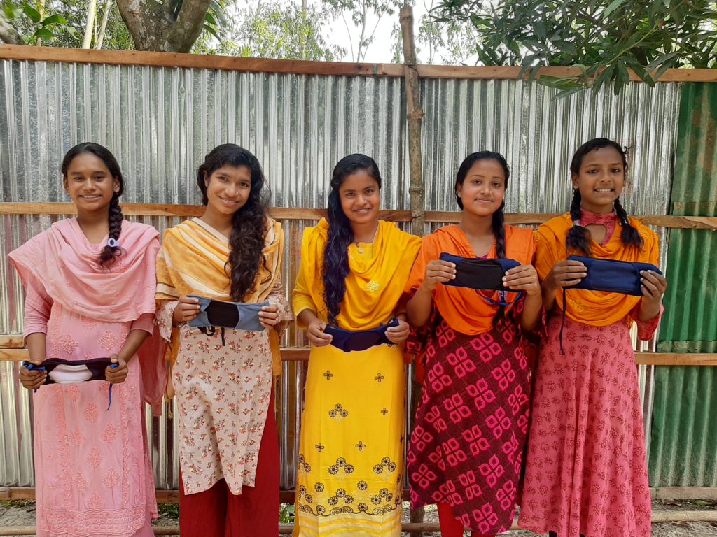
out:
{"label": "girl in pale pink with a single braid, far left", "polygon": [[122,173],[105,147],[75,145],[62,175],[77,218],[10,253],[27,291],[29,362],[112,364],[108,382],[47,386],[46,371],[20,369],[24,387],[37,390],[37,535],[151,537],[157,506],[136,353],[153,331],[158,233],[123,220]]}

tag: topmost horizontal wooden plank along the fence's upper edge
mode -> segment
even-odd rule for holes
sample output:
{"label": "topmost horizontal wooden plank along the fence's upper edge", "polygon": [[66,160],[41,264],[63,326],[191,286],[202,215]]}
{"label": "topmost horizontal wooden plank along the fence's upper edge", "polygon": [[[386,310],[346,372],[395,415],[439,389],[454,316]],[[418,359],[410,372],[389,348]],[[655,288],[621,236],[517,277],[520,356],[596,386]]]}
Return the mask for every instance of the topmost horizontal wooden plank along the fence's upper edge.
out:
{"label": "topmost horizontal wooden plank along the fence's upper edge", "polygon": [[[404,77],[403,64],[371,64],[353,62],[308,62],[295,59],[266,59],[219,56],[209,54],[176,54],[138,50],[87,50],[60,47],[0,45],[1,59],[33,62],[65,62],[106,65],[146,65],[150,67],[184,67],[219,69],[239,72],[270,72],[281,74],[319,74],[359,77]],[[449,79],[517,79],[519,66],[416,65],[419,77]],[[581,74],[577,67],[541,67],[539,75],[574,77]],[[528,74],[523,75],[527,77]],[[630,71],[630,79],[640,77]],[[717,82],[717,69],[668,69],[659,82]]]}

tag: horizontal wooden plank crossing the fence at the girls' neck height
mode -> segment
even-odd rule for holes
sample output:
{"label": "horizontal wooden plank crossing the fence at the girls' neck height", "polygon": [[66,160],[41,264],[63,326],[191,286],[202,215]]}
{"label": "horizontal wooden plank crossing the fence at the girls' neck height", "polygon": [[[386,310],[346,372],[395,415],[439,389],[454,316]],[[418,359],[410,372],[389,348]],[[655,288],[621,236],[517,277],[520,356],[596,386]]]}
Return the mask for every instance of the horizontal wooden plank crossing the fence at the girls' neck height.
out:
{"label": "horizontal wooden plank crossing the fence at the girls' neck height", "polygon": [[[122,212],[127,216],[201,216],[202,205],[171,205],[158,203],[123,203]],[[305,207],[271,207],[269,213],[277,220],[316,221],[326,216],[326,209]],[[74,203],[0,203],[0,215],[71,215],[75,214]],[[558,216],[559,213],[505,213],[505,221],[511,224],[540,224]],[[411,211],[380,211],[381,218],[392,222],[410,222]],[[671,216],[638,215],[638,220],[650,226],[682,229],[711,229],[717,231],[717,216]],[[425,221],[429,223],[456,223],[460,212],[426,211]]]}

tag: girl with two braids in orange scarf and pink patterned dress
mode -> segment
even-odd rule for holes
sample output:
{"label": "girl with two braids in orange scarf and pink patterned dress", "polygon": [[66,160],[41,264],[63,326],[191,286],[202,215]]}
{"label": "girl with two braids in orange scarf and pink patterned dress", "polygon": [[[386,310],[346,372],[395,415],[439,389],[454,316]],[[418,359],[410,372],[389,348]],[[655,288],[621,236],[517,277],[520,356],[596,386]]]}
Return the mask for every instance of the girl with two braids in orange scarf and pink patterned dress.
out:
{"label": "girl with two braids in orange scarf and pink patterned dress", "polygon": [[667,282],[647,271],[642,297],[573,289],[564,304],[562,293],[587,275],[582,263],[566,261],[571,253],[657,264],[657,236],[619,203],[626,172],[619,144],[596,138],[581,145],[570,165],[570,212],[536,234],[551,318],[538,360],[520,523],[538,533],[650,536],[630,326],[637,321],[638,337],[652,337]]}

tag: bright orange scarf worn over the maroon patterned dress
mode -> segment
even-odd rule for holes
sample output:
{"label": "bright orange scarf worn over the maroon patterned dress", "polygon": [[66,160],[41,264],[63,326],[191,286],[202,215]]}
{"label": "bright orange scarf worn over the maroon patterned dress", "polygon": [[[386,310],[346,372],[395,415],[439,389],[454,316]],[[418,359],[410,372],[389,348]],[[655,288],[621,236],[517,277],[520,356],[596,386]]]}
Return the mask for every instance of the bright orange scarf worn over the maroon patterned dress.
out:
{"label": "bright orange scarf worn over the maroon patterned dress", "polygon": [[[413,294],[422,284],[429,261],[439,258],[442,252],[462,257],[476,257],[468,238],[458,226],[445,226],[423,238],[421,251],[414,263],[406,292]],[[536,253],[533,230],[505,226],[505,257],[529,265]],[[495,245],[488,252],[488,258],[495,258]],[[498,306],[488,304],[477,296],[480,291],[465,287],[438,284],[433,291],[433,303],[440,315],[452,329],[462,334],[475,335],[493,329],[493,317]],[[513,295],[514,296],[514,295]],[[495,297],[493,297],[495,298]]]}

